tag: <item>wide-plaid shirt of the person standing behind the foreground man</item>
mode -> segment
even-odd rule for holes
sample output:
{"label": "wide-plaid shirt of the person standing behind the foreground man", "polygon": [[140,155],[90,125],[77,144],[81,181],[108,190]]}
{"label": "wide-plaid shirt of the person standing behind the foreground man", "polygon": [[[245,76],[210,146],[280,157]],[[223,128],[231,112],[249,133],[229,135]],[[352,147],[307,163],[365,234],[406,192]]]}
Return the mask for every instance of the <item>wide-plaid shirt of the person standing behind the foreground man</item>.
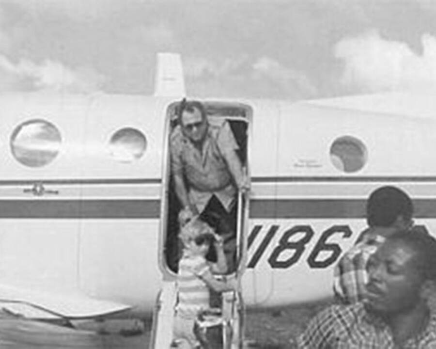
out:
{"label": "wide-plaid shirt of the person standing behind the foreground man", "polygon": [[368,228],[362,233],[362,240],[345,252],[336,264],[333,276],[335,296],[344,304],[362,301],[365,285],[368,283],[366,264],[385,238],[380,234],[392,228]]}

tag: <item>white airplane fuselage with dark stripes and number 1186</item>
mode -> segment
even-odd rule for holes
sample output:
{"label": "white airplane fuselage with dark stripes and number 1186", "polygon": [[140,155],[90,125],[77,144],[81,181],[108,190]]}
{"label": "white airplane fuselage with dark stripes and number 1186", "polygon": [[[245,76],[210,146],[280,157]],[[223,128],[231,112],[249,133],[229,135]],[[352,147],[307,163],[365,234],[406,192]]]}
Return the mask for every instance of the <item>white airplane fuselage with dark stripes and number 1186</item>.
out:
{"label": "white airplane fuselage with dark stripes and number 1186", "polygon": [[[150,313],[162,279],[174,277],[161,234],[166,109],[174,100],[19,94],[0,102],[1,283],[80,291]],[[379,186],[407,191],[416,222],[436,232],[432,120],[309,102],[244,103],[253,113],[242,278],[248,306],[330,296],[332,268],[365,227],[365,200]],[[39,119],[59,130],[61,145],[51,162],[31,167],[16,160],[11,137],[20,124]],[[111,148],[111,136],[126,127],[145,136],[138,158]],[[343,173],[332,164],[329,149],[341,136],[366,145],[361,170]],[[31,191],[35,184],[46,193]]]}

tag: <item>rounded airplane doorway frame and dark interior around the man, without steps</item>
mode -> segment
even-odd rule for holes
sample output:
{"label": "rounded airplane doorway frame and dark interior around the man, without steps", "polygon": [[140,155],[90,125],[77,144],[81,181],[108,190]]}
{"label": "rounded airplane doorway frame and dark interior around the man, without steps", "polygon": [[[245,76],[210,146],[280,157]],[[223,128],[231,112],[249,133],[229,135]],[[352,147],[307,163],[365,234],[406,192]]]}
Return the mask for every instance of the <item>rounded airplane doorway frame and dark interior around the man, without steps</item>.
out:
{"label": "rounded airplane doorway frame and dark interior around the man, without steps", "polygon": [[[246,171],[249,174],[249,154],[248,154],[248,131],[251,122],[252,111],[247,105],[241,103],[231,102],[214,102],[214,101],[201,101],[208,119],[210,122],[216,122],[225,119],[233,133],[234,139],[237,143],[238,149],[236,151],[237,156]],[[181,246],[178,239],[179,223],[178,213],[182,208],[180,202],[175,194],[174,181],[171,176],[171,161],[169,151],[169,140],[172,132],[178,127],[178,108],[181,102],[174,102],[167,108],[167,128],[166,128],[166,152],[165,152],[165,168],[163,175],[163,186],[165,195],[162,196],[162,255],[161,255],[161,268],[164,273],[172,274],[177,272],[177,264],[181,253]],[[206,218],[206,221],[212,225],[218,234],[222,233],[225,242],[226,254],[234,254],[233,266],[229,272],[234,272],[241,267],[241,261],[244,260],[243,255],[246,251],[246,233],[248,228],[248,199],[245,196],[237,195],[234,208],[232,210],[234,214],[233,227],[229,233],[229,229],[220,226],[219,219],[217,217]],[[226,232],[225,232],[226,231]],[[226,234],[227,233],[227,234]],[[232,252],[233,249],[233,252]],[[214,251],[208,255],[213,261]],[[228,264],[231,258],[228,258]]]}

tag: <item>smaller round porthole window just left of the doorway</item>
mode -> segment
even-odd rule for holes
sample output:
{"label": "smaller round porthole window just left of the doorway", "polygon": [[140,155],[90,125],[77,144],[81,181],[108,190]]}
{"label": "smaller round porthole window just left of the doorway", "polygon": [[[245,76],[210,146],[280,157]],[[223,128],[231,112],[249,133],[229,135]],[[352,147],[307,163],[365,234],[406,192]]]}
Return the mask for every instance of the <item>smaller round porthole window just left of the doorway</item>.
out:
{"label": "smaller round porthole window just left of the doorway", "polygon": [[119,129],[109,141],[110,154],[120,162],[132,162],[140,159],[144,155],[146,147],[145,136],[132,127]]}

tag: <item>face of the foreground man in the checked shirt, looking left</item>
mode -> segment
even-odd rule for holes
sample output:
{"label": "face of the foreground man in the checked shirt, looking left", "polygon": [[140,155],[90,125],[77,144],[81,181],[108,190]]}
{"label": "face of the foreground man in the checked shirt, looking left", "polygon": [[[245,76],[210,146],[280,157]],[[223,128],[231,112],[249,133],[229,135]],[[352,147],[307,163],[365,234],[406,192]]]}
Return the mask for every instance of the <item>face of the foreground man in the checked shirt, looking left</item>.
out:
{"label": "face of the foreground man in the checked shirt, looking left", "polygon": [[367,307],[386,315],[406,311],[420,301],[422,276],[416,252],[399,240],[387,240],[368,261]]}

